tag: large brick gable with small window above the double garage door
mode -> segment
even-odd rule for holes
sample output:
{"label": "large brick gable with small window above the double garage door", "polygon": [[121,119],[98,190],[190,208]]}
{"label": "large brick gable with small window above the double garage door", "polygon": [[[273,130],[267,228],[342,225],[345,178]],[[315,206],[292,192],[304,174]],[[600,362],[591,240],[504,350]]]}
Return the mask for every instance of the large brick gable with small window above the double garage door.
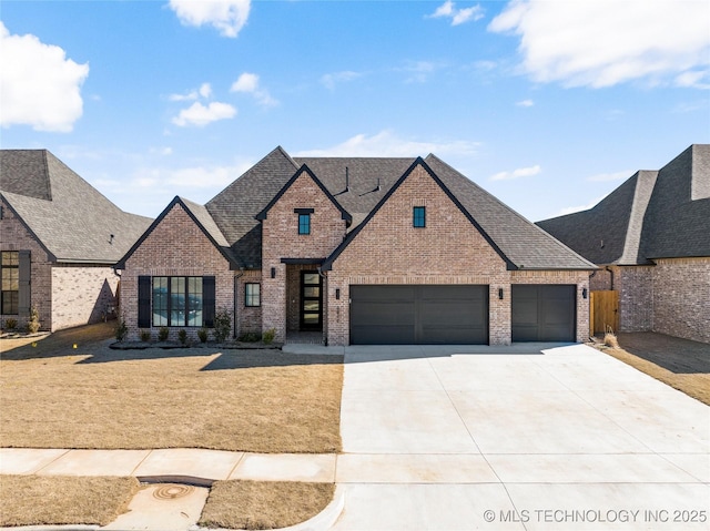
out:
{"label": "large brick gable with small window above the double garage door", "polygon": [[[415,226],[422,224],[422,214],[425,226]],[[426,276],[467,270],[495,274],[509,266],[473,216],[417,159],[323,268]]]}

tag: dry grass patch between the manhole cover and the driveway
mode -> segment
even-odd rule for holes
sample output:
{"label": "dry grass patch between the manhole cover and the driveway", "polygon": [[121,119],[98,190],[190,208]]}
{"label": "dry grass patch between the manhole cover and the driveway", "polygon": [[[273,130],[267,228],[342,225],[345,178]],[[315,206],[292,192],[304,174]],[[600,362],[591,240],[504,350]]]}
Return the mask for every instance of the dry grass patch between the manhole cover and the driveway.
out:
{"label": "dry grass patch between the manhole cover and the driveway", "polygon": [[217,481],[200,525],[226,529],[278,529],[304,522],[333,499],[333,483]]}

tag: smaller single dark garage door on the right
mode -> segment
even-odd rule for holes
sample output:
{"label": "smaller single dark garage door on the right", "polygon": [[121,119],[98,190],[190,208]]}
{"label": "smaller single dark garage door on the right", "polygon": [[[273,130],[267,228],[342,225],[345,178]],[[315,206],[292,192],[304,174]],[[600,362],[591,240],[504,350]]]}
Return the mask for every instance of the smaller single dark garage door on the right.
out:
{"label": "smaller single dark garage door on the right", "polygon": [[574,341],[576,286],[514,285],[514,341]]}

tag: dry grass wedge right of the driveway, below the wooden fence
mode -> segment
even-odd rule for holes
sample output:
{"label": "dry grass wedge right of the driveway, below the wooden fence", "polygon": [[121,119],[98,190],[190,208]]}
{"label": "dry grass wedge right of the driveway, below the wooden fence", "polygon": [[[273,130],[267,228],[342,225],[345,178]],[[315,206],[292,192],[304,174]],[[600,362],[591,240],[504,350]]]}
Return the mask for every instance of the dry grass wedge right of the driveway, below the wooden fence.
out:
{"label": "dry grass wedge right of the driveway, below the wooden fence", "polygon": [[710,345],[652,333],[619,334],[618,339],[620,348],[597,347],[710,406]]}

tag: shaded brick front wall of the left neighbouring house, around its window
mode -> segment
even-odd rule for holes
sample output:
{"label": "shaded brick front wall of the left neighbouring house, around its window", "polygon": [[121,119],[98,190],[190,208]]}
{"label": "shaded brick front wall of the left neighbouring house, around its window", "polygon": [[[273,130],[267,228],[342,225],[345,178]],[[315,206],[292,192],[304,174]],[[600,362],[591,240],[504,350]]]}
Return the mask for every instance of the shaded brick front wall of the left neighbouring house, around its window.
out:
{"label": "shaded brick front wall of the left neighbouring house, around its window", "polygon": [[[42,330],[55,330],[52,326],[52,264],[34,236],[24,224],[2,202],[2,219],[0,221],[0,249],[30,252],[30,300],[40,313]],[[18,321],[18,327],[27,324],[27,315],[2,315],[2,325],[7,318]]]}

